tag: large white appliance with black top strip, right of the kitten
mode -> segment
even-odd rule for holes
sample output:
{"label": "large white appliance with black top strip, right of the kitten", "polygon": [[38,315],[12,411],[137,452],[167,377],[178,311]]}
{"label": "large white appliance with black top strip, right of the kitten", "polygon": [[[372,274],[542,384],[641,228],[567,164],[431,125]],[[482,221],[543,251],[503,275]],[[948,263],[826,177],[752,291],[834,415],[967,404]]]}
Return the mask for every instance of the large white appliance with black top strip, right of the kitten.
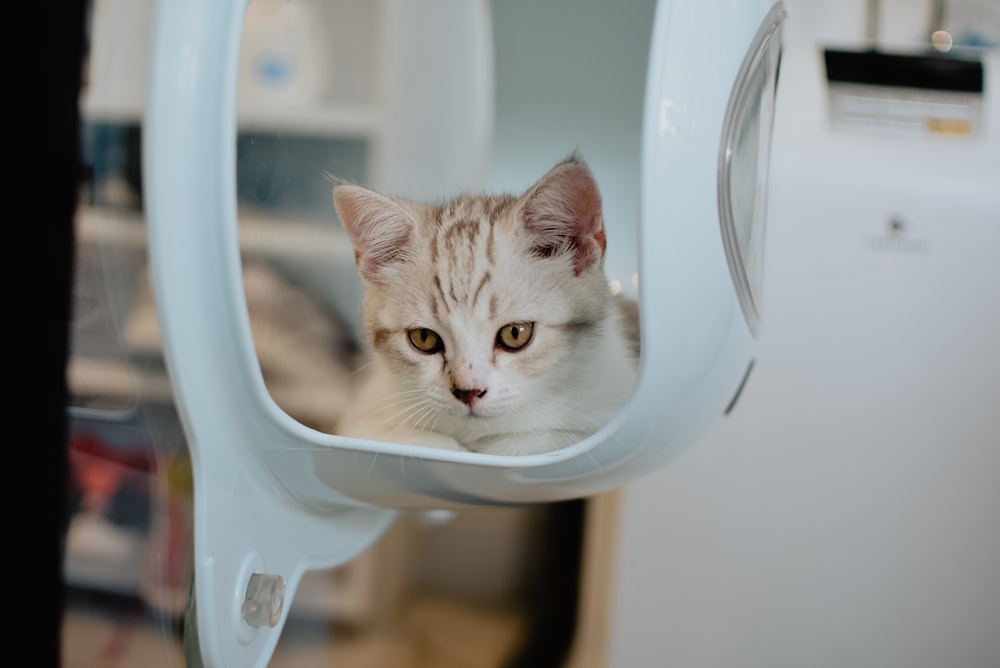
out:
{"label": "large white appliance with black top strip, right of the kitten", "polygon": [[782,58],[754,377],[622,495],[609,666],[1000,665],[1000,54],[826,46]]}

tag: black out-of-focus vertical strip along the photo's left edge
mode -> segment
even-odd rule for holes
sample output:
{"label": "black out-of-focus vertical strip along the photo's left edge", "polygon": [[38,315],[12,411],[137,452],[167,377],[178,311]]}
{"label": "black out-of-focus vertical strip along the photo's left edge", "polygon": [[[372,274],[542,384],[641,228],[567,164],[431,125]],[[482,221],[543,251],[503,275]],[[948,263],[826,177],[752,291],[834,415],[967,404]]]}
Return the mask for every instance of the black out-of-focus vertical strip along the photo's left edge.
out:
{"label": "black out-of-focus vertical strip along the photo's left edge", "polygon": [[[30,438],[17,438],[12,444],[19,462],[16,470],[8,471],[17,493],[12,510],[17,521],[24,523],[24,531],[11,536],[8,546],[13,549],[7,553],[15,560],[12,575],[29,588],[23,599],[27,610],[18,613],[29,622],[30,631],[25,634],[29,647],[19,637],[17,649],[31,657],[33,666],[58,666],[68,522],[66,362],[73,220],[82,173],[79,96],[87,2],[30,3],[27,8],[26,34],[23,39],[15,37],[13,43],[17,51],[25,51],[18,54],[18,60],[27,65],[22,71],[28,81],[20,91],[11,84],[8,101],[12,107],[17,105],[7,128],[12,138],[20,137],[11,142],[11,150],[22,146],[27,153],[27,160],[11,161],[11,171],[18,173],[15,178],[23,179],[26,187],[13,186],[8,191],[12,216],[8,222],[14,224],[7,230],[15,238],[20,237],[20,229],[27,231],[26,256],[21,257],[13,239],[7,245],[16,249],[12,254],[12,266],[18,267],[18,280],[12,285],[15,301],[24,299],[26,308],[22,314],[10,314],[7,322],[14,331],[22,326],[26,330],[28,358],[12,366],[19,369],[15,375],[23,373],[27,382],[10,385],[18,398],[8,414],[13,418],[12,430],[21,427],[14,433]],[[23,296],[22,286],[28,287]],[[15,349],[10,352],[17,356]]]}

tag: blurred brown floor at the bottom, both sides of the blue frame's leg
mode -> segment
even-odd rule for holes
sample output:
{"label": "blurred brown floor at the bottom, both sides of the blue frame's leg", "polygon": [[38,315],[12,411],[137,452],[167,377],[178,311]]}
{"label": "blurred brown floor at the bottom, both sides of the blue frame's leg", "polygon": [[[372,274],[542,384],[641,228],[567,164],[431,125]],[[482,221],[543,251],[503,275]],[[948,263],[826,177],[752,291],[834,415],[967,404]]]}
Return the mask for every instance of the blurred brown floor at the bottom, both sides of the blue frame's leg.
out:
{"label": "blurred brown floor at the bottom, both sides of the blue frame's leg", "polygon": [[[522,632],[519,616],[440,597],[414,599],[391,630],[348,630],[290,618],[271,668],[498,668]],[[129,600],[71,600],[63,668],[183,668],[170,620]]]}

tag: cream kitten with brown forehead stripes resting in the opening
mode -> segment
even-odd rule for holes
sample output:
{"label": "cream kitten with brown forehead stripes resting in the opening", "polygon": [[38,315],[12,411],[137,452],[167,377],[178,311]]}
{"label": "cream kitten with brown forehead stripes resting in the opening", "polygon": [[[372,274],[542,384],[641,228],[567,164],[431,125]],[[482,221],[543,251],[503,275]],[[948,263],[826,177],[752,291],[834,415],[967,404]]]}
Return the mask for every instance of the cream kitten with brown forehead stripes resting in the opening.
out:
{"label": "cream kitten with brown forehead stripes resting in the opening", "polygon": [[336,182],[370,365],[337,433],[491,454],[573,444],[635,379],[604,275],[601,196],[577,156],[520,197],[438,205]]}

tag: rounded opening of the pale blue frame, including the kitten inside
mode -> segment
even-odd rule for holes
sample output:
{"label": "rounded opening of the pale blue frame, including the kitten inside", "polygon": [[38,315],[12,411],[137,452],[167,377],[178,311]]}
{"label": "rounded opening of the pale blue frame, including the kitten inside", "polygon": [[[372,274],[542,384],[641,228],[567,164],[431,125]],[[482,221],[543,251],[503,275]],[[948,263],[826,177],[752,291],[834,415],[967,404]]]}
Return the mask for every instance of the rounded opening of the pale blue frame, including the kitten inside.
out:
{"label": "rounded opening of the pale blue frame, including the kitten inside", "polygon": [[286,413],[510,455],[614,418],[638,366],[654,5],[614,21],[594,8],[553,34],[555,8],[529,25],[479,3],[250,1],[244,291]]}

